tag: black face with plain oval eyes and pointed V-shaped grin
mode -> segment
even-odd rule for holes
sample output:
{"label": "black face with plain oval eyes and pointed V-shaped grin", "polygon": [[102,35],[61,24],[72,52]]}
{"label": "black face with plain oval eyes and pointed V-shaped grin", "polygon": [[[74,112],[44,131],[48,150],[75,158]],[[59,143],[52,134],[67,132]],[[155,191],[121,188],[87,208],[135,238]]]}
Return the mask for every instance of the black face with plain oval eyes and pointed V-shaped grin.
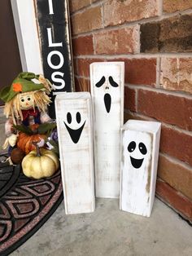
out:
{"label": "black face with plain oval eyes and pointed V-shaped grin", "polygon": [[[77,125],[76,129],[72,129],[72,127],[75,128],[74,123],[75,126]],[[67,113],[67,121],[64,121],[64,125],[67,128],[68,134],[70,135],[73,143],[78,143],[81,137],[81,132],[85,126],[85,121],[82,123],[82,125],[81,123],[81,113],[76,112],[75,116],[73,117],[72,113]]]}

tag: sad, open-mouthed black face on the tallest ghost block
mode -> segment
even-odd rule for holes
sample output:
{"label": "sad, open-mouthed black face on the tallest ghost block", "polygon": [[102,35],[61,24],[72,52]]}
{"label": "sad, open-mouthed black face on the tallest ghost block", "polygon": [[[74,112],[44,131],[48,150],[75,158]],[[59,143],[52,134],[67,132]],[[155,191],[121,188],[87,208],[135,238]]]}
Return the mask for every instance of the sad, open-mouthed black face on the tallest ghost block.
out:
{"label": "sad, open-mouthed black face on the tallest ghost block", "polygon": [[[106,84],[106,79],[108,79],[108,82]],[[105,86],[105,95],[104,95],[104,104],[105,104],[105,108],[107,113],[110,113],[111,110],[111,95],[109,93],[107,93],[107,90],[109,90],[109,86],[113,86],[113,87],[118,87],[119,85],[114,81],[113,77],[109,76],[109,77],[102,77],[96,84],[96,87],[101,87],[101,86]]]}

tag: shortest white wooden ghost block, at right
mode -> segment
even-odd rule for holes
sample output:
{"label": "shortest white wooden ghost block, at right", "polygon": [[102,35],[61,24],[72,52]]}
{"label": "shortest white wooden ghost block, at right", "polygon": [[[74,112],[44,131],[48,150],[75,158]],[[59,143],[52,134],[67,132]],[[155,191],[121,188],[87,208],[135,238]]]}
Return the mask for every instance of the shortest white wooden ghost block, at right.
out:
{"label": "shortest white wooden ghost block, at right", "polygon": [[129,120],[122,127],[120,209],[150,217],[155,198],[161,124]]}

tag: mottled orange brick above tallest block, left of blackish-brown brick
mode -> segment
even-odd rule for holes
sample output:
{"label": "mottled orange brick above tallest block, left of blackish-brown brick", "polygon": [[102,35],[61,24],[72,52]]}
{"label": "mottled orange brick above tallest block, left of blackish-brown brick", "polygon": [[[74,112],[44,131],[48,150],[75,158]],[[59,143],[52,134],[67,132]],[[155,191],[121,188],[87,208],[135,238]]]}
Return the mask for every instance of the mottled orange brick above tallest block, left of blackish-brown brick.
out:
{"label": "mottled orange brick above tallest block, left of blackish-brown brick", "polygon": [[96,54],[107,55],[137,52],[139,43],[137,27],[96,33],[94,39]]}

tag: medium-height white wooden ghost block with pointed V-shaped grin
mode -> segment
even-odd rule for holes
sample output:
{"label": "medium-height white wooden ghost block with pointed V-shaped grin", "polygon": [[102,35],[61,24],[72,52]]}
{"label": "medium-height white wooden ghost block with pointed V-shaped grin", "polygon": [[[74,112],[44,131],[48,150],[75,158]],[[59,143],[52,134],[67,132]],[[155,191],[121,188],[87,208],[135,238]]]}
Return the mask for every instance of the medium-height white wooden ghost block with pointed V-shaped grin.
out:
{"label": "medium-height white wooden ghost block with pointed V-shaped grin", "polygon": [[94,211],[92,104],[89,92],[61,93],[55,99],[66,214]]}

